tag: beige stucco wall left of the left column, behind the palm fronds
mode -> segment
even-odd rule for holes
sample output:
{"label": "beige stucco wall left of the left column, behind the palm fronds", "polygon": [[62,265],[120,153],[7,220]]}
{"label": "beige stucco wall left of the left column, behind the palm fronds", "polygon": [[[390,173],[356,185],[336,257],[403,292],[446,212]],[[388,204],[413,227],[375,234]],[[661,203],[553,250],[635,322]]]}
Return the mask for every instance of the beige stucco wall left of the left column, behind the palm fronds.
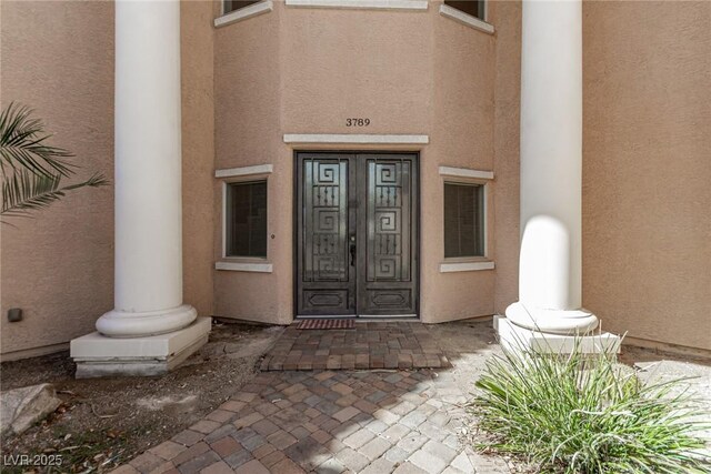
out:
{"label": "beige stucco wall left of the left column, behind the palm fronds", "polygon": [[[76,153],[83,168],[113,179],[113,6],[3,1],[0,93],[18,101]],[[93,330],[113,305],[113,192],[68,194],[36,219],[0,229],[3,359],[66,343]],[[21,307],[22,322],[7,311]],[[51,347],[50,347],[51,349]]]}

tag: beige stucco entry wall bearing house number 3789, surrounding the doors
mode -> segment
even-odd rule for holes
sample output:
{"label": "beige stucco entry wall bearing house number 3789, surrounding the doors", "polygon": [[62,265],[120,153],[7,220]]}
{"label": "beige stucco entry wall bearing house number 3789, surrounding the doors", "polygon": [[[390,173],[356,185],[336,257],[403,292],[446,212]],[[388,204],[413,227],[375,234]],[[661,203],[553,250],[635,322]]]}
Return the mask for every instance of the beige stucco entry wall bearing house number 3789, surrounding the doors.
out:
{"label": "beige stucco entry wall bearing house number 3789, surrounding the doors", "polygon": [[[439,272],[443,180],[438,167],[494,168],[495,39],[440,16],[440,3],[431,2],[427,12],[393,12],[274,2],[273,12],[217,29],[216,167],[274,165],[268,210],[274,239],[268,249],[272,273],[216,271],[216,315],[293,319],[293,149],[283,143],[283,133],[428,134],[430,143],[419,149],[421,319],[493,312],[494,271]],[[368,117],[371,124],[353,130],[346,127],[348,117]],[[219,260],[219,180],[214,190]],[[489,224],[493,254],[492,212]]]}

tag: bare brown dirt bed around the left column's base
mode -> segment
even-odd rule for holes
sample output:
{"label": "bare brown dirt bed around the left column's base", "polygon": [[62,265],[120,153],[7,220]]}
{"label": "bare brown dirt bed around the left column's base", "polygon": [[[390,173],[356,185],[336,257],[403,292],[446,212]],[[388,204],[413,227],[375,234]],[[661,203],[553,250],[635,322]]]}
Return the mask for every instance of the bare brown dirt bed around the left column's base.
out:
{"label": "bare brown dirt bed around the left column's base", "polygon": [[[76,380],[68,352],[6,362],[1,390],[49,382],[63,404],[20,436],[2,440],[0,472],[108,472],[170,438],[229,399],[257,372],[283,327],[214,324],[210,342],[163,377]],[[60,454],[53,467],[9,457]]]}

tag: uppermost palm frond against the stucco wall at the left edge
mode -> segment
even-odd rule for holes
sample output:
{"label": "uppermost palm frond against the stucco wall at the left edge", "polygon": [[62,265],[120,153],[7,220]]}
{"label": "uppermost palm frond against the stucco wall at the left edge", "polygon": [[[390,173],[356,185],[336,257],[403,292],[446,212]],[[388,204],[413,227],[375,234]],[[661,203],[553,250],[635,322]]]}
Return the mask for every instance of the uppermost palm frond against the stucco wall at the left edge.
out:
{"label": "uppermost palm frond against the stucco wall at the left edge", "polygon": [[73,154],[47,144],[51,135],[44,132],[42,121],[31,114],[31,109],[14,102],[0,112],[0,170],[4,175],[6,168],[10,168],[46,178],[69,177],[74,165],[67,159]]}

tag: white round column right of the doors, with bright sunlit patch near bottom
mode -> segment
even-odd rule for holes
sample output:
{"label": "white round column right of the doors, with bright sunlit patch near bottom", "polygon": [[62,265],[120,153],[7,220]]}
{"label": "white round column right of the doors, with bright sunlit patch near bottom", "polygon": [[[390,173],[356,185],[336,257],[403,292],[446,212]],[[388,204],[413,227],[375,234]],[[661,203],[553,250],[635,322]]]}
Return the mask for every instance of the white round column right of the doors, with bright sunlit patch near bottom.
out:
{"label": "white round column right of the doors, with bright sunlit patch near bottom", "polygon": [[521,254],[515,325],[555,334],[598,325],[581,310],[582,4],[524,0]]}

